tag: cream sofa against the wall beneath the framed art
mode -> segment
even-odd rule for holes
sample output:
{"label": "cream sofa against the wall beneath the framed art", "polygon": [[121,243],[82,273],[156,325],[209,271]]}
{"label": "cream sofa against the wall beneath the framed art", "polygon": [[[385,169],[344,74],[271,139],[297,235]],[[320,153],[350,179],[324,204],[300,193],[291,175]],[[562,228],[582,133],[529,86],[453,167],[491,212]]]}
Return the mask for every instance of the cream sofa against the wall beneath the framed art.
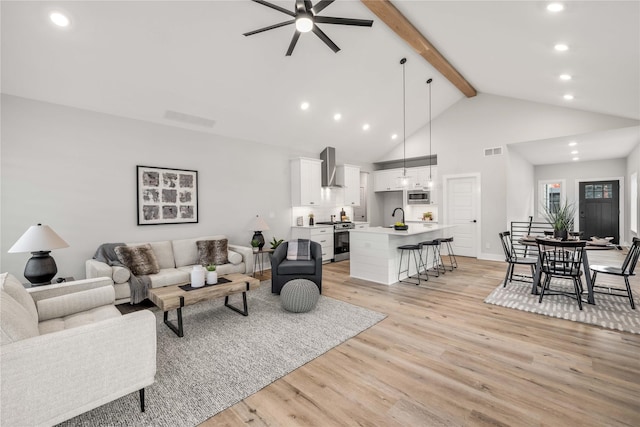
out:
{"label": "cream sofa against the wall beneath the framed art", "polygon": [[[127,246],[149,244],[153,250],[160,271],[149,274],[151,287],[177,285],[188,283],[193,266],[198,264],[199,240],[226,239],[224,235],[204,236],[191,239],[163,240],[159,242],[126,243]],[[253,251],[250,247],[228,244],[229,263],[216,266],[218,275],[229,273],[253,274]],[[87,278],[108,277],[113,280],[116,293],[116,304],[130,301],[129,288],[130,272],[126,268],[110,266],[95,259],[85,263]]]}

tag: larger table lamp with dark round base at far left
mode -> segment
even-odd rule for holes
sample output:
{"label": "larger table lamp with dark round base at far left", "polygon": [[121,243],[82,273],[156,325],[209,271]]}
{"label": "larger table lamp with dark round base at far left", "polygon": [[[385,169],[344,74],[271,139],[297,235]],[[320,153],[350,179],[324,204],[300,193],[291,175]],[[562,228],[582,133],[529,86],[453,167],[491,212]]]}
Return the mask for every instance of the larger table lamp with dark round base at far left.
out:
{"label": "larger table lamp with dark round base at far left", "polygon": [[49,255],[53,249],[68,248],[65,242],[48,225],[32,225],[11,246],[9,253],[31,252],[33,255],[24,267],[24,277],[34,285],[46,285],[58,272],[56,262]]}

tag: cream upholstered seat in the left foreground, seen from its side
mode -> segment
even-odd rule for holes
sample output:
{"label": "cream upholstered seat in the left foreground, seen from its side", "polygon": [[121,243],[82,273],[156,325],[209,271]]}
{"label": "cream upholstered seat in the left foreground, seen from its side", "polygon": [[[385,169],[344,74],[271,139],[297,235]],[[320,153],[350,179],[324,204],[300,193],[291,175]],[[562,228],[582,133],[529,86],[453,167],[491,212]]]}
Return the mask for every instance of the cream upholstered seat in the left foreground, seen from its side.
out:
{"label": "cream upholstered seat in the left foreground, seen from its side", "polygon": [[0,424],[54,425],[144,388],[156,373],[156,318],[122,316],[111,279],[26,290],[0,274]]}

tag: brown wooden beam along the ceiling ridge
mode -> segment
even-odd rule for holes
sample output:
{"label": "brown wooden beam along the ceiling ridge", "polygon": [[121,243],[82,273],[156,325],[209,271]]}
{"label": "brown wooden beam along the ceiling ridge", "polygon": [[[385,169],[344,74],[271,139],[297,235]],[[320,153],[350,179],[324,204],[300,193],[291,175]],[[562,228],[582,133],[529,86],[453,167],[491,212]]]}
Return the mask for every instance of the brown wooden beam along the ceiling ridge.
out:
{"label": "brown wooden beam along the ceiling ridge", "polygon": [[389,0],[360,0],[467,98],[478,93],[425,36]]}

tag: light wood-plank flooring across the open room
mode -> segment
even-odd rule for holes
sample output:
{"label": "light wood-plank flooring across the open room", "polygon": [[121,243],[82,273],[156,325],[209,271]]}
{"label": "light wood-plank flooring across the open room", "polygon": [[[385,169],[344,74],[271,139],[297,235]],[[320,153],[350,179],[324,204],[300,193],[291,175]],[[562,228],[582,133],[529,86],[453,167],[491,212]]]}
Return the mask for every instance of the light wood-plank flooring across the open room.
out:
{"label": "light wood-plank flooring across the open room", "polygon": [[485,304],[506,264],[458,263],[421,286],[325,265],[325,296],[387,318],[202,426],[640,426],[640,335]]}

